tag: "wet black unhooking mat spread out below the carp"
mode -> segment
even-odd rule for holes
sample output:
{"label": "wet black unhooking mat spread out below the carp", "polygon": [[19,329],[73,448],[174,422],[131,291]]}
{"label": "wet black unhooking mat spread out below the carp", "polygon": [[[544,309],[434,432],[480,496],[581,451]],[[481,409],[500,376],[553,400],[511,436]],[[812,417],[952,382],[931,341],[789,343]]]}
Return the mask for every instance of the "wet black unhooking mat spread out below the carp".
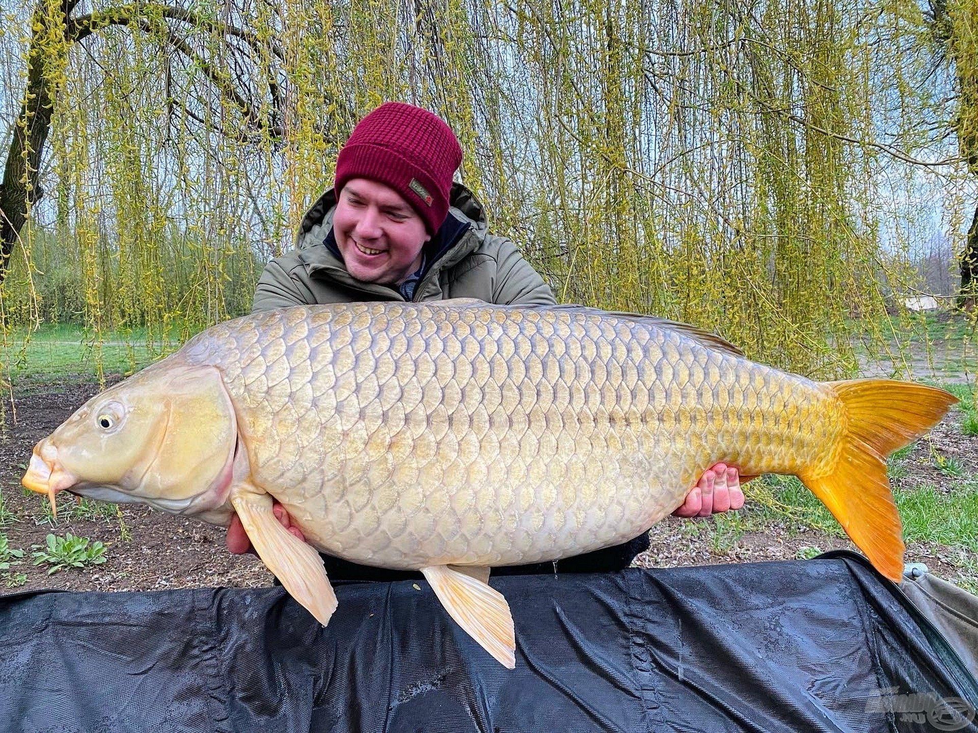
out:
{"label": "wet black unhooking mat spread out below the carp", "polygon": [[0,598],[2,731],[976,730],[975,680],[854,555],[497,578],[501,667],[426,582]]}

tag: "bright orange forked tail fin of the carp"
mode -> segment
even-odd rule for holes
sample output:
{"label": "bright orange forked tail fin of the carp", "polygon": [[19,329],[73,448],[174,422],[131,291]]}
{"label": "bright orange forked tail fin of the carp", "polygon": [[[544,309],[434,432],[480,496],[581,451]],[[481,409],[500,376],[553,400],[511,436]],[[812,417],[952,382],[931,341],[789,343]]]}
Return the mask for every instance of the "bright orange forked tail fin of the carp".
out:
{"label": "bright orange forked tail fin of the carp", "polygon": [[943,389],[891,379],[827,382],[844,406],[846,430],[822,464],[800,478],[828,507],[869,562],[893,582],[904,572],[900,515],[886,458],[940,422],[957,402]]}

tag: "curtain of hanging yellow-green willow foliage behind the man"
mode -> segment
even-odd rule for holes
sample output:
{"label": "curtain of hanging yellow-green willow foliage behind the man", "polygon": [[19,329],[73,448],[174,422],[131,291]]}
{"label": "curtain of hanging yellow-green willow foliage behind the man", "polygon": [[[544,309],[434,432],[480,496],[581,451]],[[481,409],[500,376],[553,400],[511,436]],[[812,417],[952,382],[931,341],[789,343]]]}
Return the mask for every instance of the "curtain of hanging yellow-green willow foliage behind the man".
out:
{"label": "curtain of hanging yellow-green willow foliage behind the man", "polygon": [[921,195],[963,245],[975,7],[36,0],[3,18],[3,143],[26,161],[0,192],[26,201],[5,327],[164,349],[245,313],[352,126],[396,99],[455,129],[462,180],[559,299],[840,374],[853,320],[914,286]]}

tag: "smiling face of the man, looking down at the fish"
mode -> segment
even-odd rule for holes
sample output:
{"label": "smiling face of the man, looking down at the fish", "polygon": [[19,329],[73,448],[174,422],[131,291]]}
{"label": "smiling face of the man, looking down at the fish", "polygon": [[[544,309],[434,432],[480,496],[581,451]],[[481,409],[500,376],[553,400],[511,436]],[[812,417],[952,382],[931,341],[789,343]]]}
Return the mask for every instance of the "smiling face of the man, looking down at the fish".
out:
{"label": "smiling face of the man, looking down at the fish", "polygon": [[401,194],[366,178],[350,180],[339,193],[333,236],[350,275],[384,285],[421,267],[422,246],[430,238],[424,220]]}

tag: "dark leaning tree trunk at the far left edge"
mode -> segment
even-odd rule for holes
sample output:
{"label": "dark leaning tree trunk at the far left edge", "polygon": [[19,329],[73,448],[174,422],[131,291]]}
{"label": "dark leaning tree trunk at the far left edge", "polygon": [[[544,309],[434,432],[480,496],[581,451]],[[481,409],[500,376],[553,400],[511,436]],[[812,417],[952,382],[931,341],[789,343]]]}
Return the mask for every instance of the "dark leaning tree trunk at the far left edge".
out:
{"label": "dark leaning tree trunk at the far left edge", "polygon": [[7,152],[3,183],[0,183],[0,283],[7,275],[10,257],[27,220],[27,203],[39,197],[41,156],[54,113],[51,82],[44,73],[45,65],[53,60],[46,58],[46,50],[37,43],[37,38],[46,32],[47,25],[54,22],[46,13],[45,5],[43,1],[39,2],[31,19],[31,26],[40,26],[42,30],[34,31],[30,41],[27,88],[21,114],[14,126],[14,138]]}

